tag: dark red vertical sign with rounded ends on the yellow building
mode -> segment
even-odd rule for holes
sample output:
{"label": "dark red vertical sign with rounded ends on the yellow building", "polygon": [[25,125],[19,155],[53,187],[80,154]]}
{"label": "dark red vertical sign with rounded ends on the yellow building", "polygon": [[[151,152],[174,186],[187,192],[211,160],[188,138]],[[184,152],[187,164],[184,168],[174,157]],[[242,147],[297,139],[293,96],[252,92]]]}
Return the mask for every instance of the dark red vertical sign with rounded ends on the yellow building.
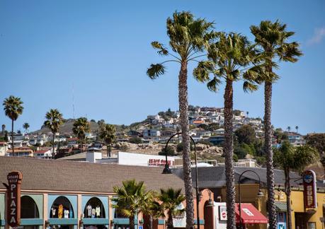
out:
{"label": "dark red vertical sign with rounded ends on the yellow building", "polygon": [[304,208],[316,209],[317,196],[316,196],[316,174],[313,170],[306,170],[302,175],[304,182]]}

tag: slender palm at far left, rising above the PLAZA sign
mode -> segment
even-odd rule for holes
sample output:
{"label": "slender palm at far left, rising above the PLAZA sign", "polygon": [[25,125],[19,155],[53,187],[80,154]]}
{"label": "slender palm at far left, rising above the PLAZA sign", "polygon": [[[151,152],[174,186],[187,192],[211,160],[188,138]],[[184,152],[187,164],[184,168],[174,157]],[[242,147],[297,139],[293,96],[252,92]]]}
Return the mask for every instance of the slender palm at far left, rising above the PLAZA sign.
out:
{"label": "slender palm at far left, rising above the PLAZA sign", "polygon": [[21,98],[10,95],[4,100],[2,104],[4,106],[4,113],[11,119],[11,148],[13,150],[13,122],[16,121],[19,115],[23,114],[23,102]]}

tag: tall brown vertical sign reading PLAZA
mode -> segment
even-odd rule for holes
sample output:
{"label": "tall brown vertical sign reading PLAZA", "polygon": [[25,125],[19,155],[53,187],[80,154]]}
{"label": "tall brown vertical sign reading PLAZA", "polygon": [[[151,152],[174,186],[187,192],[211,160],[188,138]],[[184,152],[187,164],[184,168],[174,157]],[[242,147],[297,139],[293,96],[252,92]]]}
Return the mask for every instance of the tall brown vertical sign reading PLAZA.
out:
{"label": "tall brown vertical sign reading PLAZA", "polygon": [[21,172],[13,171],[7,176],[7,222],[12,228],[21,224]]}

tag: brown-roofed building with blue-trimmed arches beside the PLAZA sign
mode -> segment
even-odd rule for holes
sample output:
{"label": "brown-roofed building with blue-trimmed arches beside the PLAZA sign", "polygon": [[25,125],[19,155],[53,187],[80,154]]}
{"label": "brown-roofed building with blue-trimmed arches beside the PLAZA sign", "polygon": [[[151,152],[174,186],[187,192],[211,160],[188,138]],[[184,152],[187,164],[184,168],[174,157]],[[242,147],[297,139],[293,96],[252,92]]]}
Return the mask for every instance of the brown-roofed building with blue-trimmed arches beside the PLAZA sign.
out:
{"label": "brown-roofed building with blue-trimmed arches beside the PLAZA sign", "polygon": [[[183,189],[183,180],[173,174],[161,174],[159,167],[97,164],[36,158],[2,157],[0,160],[0,228],[9,228],[9,197],[6,187],[11,171],[22,174],[20,228],[127,228],[128,218],[113,208],[113,187],[124,180],[144,181],[147,190]],[[193,192],[194,193],[194,192]],[[205,202],[213,196],[202,192],[200,223],[204,228]],[[9,197],[10,198],[10,197]],[[185,203],[180,207],[184,207]],[[196,212],[196,210],[195,210]],[[183,228],[186,216],[176,218]],[[195,216],[196,217],[196,216]],[[166,218],[154,222],[154,228],[164,228]],[[135,225],[145,227],[146,217],[139,214]]]}

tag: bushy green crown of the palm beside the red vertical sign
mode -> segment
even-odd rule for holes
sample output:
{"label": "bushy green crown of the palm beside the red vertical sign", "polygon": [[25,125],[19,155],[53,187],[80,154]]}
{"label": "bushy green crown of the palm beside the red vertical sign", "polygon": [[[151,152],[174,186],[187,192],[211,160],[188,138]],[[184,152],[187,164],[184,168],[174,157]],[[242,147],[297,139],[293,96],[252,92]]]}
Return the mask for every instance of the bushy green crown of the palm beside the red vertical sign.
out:
{"label": "bushy green crown of the palm beside the red vertical sign", "polygon": [[289,141],[284,141],[274,153],[274,160],[283,170],[301,171],[307,165],[315,163],[319,153],[311,146],[292,146]]}

